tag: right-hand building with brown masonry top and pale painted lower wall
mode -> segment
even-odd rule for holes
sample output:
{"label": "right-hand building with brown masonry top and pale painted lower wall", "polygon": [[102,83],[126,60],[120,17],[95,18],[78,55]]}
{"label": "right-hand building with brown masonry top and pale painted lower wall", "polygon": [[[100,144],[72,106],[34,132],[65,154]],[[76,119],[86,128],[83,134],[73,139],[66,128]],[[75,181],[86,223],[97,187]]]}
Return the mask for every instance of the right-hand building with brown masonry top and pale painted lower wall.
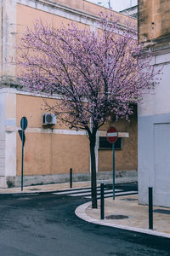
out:
{"label": "right-hand building with brown masonry top and pale painted lower wall", "polygon": [[139,43],[154,51],[153,65],[162,68],[161,82],[144,96],[139,108],[139,203],[170,207],[170,0],[139,0]]}

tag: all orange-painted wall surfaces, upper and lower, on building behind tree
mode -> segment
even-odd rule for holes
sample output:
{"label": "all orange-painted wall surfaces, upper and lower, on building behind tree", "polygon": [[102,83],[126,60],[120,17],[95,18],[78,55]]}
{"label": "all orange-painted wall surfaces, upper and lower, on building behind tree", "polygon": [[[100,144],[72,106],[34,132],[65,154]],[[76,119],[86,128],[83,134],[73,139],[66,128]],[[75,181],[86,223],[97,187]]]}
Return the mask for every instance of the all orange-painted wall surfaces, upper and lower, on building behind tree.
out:
{"label": "all orange-painted wall surfaces, upper and lower, on building behind tree", "polygon": [[[55,0],[57,3],[63,3],[74,9],[80,9],[93,15],[98,15],[103,9],[93,3],[83,0]],[[116,14],[121,18],[121,22],[129,20],[124,15]],[[63,23],[67,25],[72,20],[63,18],[58,15],[52,15],[38,9],[17,4],[17,42],[20,40],[26,27],[32,27],[35,20],[48,21],[55,27],[60,27]],[[133,19],[130,19],[133,20]],[[135,23],[136,21],[133,20]],[[77,23],[83,27],[84,24]],[[53,102],[52,99],[47,99]],[[26,130],[25,146],[25,175],[38,174],[57,174],[68,173],[70,167],[73,172],[89,172],[89,142],[87,136],[60,135],[55,132],[47,132],[42,128],[42,113],[45,111],[45,103],[42,97],[17,95],[16,97],[16,117],[17,126],[20,127],[20,119],[26,116],[28,119],[28,128]],[[109,125],[109,124],[108,124]],[[108,125],[102,127],[107,130]],[[111,125],[111,124],[110,124]],[[115,125],[115,124],[114,124]],[[119,122],[116,124],[119,131],[130,131],[130,138],[123,139],[123,149],[116,151],[116,170],[137,169],[137,125],[136,119],[132,122]],[[54,129],[67,129],[65,125],[59,124]],[[21,143],[17,135],[17,175],[20,175],[20,157]],[[112,155],[111,151],[99,150],[99,172],[111,171]]]}

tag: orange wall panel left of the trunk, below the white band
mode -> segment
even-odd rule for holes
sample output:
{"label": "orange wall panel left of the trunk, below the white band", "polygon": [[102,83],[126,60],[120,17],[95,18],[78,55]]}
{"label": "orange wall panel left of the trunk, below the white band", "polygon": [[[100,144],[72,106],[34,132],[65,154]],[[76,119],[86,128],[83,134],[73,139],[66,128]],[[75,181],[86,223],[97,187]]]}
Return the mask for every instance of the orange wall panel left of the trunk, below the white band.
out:
{"label": "orange wall panel left of the trunk, below the white band", "polygon": [[[17,136],[17,175],[20,175],[21,142]],[[88,137],[26,132],[25,175],[89,172]]]}

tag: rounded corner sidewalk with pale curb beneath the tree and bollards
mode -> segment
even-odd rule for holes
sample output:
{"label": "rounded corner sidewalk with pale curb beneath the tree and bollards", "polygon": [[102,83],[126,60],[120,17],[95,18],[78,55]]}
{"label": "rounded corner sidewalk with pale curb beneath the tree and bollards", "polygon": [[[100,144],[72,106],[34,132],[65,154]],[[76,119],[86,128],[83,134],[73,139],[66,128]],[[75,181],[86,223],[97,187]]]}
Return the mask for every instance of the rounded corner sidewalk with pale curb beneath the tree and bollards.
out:
{"label": "rounded corner sidewalk with pale curb beneath the tree and bollards", "polygon": [[[115,201],[106,198],[104,220],[100,220],[100,201],[98,209],[92,209],[91,202],[88,202],[77,207],[75,213],[79,218],[94,224],[170,238],[170,208],[154,207],[154,230],[149,230],[148,206],[138,204],[138,195],[118,196]],[[127,218],[120,219],[122,215]]]}

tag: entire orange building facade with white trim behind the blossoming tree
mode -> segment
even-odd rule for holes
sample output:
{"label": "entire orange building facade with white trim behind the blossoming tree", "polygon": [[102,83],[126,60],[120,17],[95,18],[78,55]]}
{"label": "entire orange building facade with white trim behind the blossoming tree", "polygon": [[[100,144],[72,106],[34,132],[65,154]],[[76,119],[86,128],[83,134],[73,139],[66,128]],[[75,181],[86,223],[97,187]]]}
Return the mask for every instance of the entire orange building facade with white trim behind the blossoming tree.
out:
{"label": "entire orange building facade with white trim behind the blossoming tree", "polygon": [[[52,128],[42,126],[45,102],[59,100],[45,94],[26,90],[17,79],[19,70],[11,60],[16,57],[14,45],[20,41],[26,26],[35,20],[44,20],[60,27],[63,23],[77,22],[95,30],[98,14],[109,12],[83,0],[1,0],[0,44],[0,188],[20,186],[21,141],[18,134],[20,119],[26,116],[26,144],[24,158],[24,185],[60,183],[68,181],[70,168],[74,180],[90,177],[89,141],[85,131],[69,130],[58,122]],[[120,14],[120,29],[128,17]],[[135,22],[135,21],[133,21]],[[111,148],[105,148],[106,130],[115,125],[120,143],[116,150],[118,176],[135,176],[137,172],[137,118],[130,122],[110,122],[101,127],[96,144],[96,162],[99,178],[111,177]],[[102,138],[101,138],[102,137]],[[102,143],[104,143],[102,145]]]}

